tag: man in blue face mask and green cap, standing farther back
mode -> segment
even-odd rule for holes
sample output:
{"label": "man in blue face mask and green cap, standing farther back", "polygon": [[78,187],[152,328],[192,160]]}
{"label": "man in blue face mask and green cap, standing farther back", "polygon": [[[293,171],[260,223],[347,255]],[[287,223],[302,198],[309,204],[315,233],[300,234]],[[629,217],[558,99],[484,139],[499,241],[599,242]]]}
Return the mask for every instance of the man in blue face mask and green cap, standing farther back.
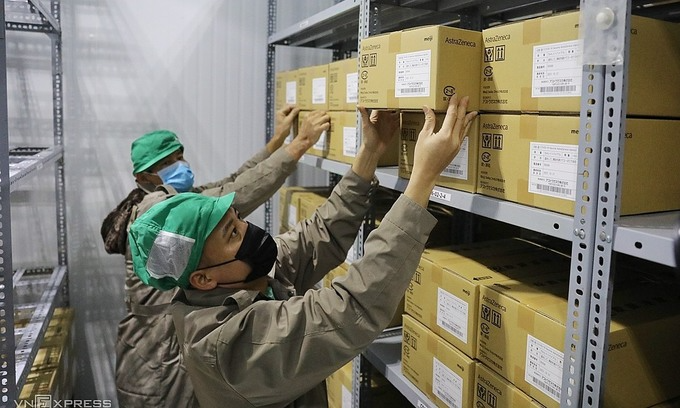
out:
{"label": "man in blue face mask and green cap, standing farther back", "polygon": [[281,187],[302,155],[329,128],[328,114],[311,112],[297,136],[281,147],[298,112],[292,107],[277,112],[275,133],[265,149],[236,173],[197,187],[193,186],[193,173],[184,159],[184,146],[173,132],[154,131],[132,143],[133,174],[138,188],[107,216],[101,230],[107,252],[124,254],[126,259],[128,313],[118,326],[116,342],[116,387],[121,406],[194,404],[188,377],[172,360],[178,354],[177,341],[165,310],[174,291],[163,292],[144,285],[133,273],[128,226],[157,203],[185,191],[212,197],[235,191],[238,198],[234,206],[242,214],[250,214]]}

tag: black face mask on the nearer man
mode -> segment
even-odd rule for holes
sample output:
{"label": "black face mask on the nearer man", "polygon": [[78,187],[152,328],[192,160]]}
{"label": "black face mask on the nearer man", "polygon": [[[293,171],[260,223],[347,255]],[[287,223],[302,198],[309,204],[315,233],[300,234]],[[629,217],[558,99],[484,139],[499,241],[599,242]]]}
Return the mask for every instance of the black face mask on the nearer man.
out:
{"label": "black face mask on the nearer man", "polygon": [[272,238],[270,234],[267,234],[262,228],[248,222],[248,229],[243,237],[241,247],[236,253],[236,257],[226,262],[221,262],[201,269],[215,268],[237,260],[243,261],[252,268],[244,280],[220,283],[223,285],[230,285],[233,283],[251,282],[267,275],[269,271],[271,271],[272,266],[274,266],[274,263],[276,262],[277,254],[278,250],[276,249],[276,241],[274,241],[274,238]]}

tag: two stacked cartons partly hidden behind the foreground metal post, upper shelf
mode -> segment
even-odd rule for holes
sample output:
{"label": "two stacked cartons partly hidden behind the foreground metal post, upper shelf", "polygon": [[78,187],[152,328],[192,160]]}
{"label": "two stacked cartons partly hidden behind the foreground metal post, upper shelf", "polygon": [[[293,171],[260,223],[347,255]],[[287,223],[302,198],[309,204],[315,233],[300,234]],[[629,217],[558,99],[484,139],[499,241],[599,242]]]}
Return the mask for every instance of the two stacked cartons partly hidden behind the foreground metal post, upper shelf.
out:
{"label": "two stacked cartons partly hidden behind the foreground metal post, upper shelf", "polygon": [[[581,104],[607,97],[581,94],[578,25],[570,12],[483,31],[478,193],[574,213]],[[679,209],[680,26],[631,27],[621,214]]]}

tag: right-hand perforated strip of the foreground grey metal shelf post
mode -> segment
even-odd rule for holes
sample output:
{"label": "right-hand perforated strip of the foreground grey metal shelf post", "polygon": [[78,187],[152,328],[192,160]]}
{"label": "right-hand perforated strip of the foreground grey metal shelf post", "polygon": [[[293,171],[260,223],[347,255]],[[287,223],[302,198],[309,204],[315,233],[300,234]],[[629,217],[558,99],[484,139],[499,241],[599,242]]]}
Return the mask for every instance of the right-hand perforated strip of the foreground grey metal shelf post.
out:
{"label": "right-hand perforated strip of the foreground grey metal shelf post", "polygon": [[[607,368],[607,339],[611,316],[611,300],[614,291],[614,223],[618,221],[621,203],[621,169],[623,164],[623,144],[626,121],[626,87],[630,48],[630,10],[631,0],[622,2],[596,2],[583,0],[581,10],[584,15],[603,13],[617,16],[607,30],[618,29],[623,33],[622,58],[606,64],[599,71],[604,82],[601,116],[601,150],[597,213],[593,246],[592,282],[590,284],[590,305],[588,313],[588,335],[584,339],[585,373],[583,376],[583,407],[599,407],[604,395],[604,379]],[[588,21],[595,24],[593,19]],[[602,30],[604,31],[604,30]],[[588,39],[585,39],[588,41]]]}

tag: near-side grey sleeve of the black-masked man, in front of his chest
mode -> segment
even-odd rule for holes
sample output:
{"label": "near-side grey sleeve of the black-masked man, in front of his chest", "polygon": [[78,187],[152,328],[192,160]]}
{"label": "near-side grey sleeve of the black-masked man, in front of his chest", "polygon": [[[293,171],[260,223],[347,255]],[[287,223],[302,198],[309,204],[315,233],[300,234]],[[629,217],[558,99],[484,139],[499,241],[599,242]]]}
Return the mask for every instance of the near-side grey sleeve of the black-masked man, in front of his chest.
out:
{"label": "near-side grey sleeve of the black-masked man, in front of his chest", "polygon": [[208,335],[217,347],[214,375],[254,406],[292,401],[322,382],[387,326],[435,223],[401,196],[344,280],[287,301],[255,302]]}

